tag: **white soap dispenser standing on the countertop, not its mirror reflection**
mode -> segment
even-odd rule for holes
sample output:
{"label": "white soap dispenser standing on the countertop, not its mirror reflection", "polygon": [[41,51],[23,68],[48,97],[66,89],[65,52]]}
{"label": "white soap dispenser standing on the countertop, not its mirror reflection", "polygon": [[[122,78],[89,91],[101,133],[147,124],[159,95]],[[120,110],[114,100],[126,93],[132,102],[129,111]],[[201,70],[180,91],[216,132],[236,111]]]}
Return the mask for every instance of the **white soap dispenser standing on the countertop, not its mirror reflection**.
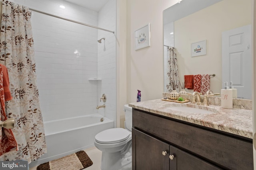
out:
{"label": "white soap dispenser standing on the countertop, not its mirror reflection", "polygon": [[220,90],[221,107],[226,109],[233,108],[233,91],[228,89],[228,82],[223,82],[226,86]]}

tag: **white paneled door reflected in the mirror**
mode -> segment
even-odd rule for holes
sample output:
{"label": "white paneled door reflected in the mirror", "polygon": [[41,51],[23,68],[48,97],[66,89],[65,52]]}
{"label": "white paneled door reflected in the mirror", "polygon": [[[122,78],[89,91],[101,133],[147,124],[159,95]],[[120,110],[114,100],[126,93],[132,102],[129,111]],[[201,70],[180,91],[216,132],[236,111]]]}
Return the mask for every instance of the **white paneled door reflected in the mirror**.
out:
{"label": "white paneled door reflected in the mirror", "polygon": [[232,82],[238,98],[252,99],[251,25],[222,32],[222,82]]}

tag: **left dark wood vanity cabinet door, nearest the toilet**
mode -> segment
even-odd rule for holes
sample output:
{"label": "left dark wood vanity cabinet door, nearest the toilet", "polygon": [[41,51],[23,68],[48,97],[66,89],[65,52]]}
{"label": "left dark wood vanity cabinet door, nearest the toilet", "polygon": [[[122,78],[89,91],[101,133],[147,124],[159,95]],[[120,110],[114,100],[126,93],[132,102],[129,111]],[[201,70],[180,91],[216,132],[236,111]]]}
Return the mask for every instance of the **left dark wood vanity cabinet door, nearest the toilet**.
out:
{"label": "left dark wood vanity cabinet door, nearest the toilet", "polygon": [[169,144],[132,128],[132,170],[169,170]]}

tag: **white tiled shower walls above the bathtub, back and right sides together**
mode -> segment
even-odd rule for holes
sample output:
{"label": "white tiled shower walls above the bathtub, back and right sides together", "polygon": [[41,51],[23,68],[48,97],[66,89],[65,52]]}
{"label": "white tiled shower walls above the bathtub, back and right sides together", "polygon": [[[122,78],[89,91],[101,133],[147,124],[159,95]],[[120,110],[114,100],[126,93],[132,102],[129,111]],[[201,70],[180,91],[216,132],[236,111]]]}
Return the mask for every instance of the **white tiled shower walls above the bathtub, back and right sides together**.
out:
{"label": "white tiled shower walls above the bathtub, back and right sides together", "polygon": [[[12,2],[89,25],[101,25],[100,12],[63,0],[13,0]],[[60,4],[66,8],[60,9]],[[103,9],[107,10],[108,7],[110,6],[106,4]],[[116,10],[112,13],[116,14]],[[112,14],[108,16],[112,17]],[[112,21],[112,18],[104,18],[104,20]],[[38,12],[32,12],[32,29],[43,120],[50,121],[99,112],[116,121],[116,97],[112,98],[108,95],[115,94],[115,83],[112,84],[116,78],[113,71],[116,59],[114,34]],[[115,31],[115,26],[111,25],[111,29]],[[101,32],[103,32],[102,36],[106,37],[106,51],[102,51],[103,47],[97,42],[98,34],[100,35]],[[106,59],[98,58],[99,54],[107,55]],[[89,80],[99,77],[102,78],[101,81]],[[105,89],[106,85],[102,83],[111,84],[111,90]],[[102,104],[99,103],[102,93],[109,96],[106,102],[109,109],[108,107],[96,109],[98,104]]]}

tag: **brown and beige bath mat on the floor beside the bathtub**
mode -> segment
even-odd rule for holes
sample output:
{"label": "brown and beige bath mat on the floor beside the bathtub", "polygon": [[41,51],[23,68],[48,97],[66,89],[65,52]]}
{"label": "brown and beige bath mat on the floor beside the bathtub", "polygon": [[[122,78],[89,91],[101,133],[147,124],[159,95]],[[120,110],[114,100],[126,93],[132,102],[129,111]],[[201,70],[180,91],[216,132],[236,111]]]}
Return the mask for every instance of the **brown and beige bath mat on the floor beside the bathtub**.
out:
{"label": "brown and beige bath mat on the floor beside the bathtub", "polygon": [[84,150],[81,150],[68,156],[40,164],[36,170],[82,170],[91,165],[92,160]]}

